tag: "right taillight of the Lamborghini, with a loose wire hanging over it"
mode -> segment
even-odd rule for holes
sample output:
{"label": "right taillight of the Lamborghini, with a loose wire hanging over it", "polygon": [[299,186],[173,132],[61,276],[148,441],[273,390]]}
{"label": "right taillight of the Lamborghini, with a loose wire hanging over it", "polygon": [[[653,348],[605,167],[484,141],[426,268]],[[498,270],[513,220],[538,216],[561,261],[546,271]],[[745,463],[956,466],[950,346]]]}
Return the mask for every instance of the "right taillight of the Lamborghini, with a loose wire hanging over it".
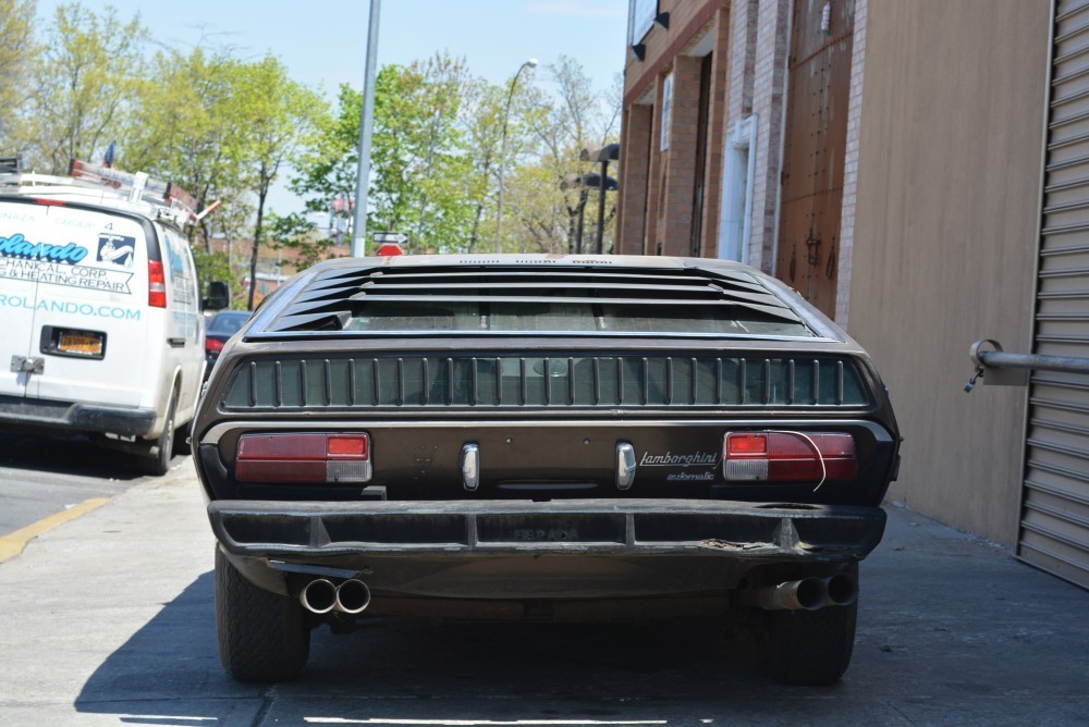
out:
{"label": "right taillight of the Lamborghini, with a loose wire hanging over it", "polygon": [[858,477],[855,438],[828,432],[730,432],[722,469],[732,482],[845,481]]}

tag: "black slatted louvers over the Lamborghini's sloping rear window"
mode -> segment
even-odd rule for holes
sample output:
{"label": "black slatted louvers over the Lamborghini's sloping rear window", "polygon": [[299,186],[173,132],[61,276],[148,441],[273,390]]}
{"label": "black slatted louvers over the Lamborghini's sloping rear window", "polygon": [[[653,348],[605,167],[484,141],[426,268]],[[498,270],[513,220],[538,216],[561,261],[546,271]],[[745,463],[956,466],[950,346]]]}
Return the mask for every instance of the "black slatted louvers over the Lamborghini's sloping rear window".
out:
{"label": "black slatted louvers over the Lamborghini's sloping rear window", "polygon": [[724,317],[804,325],[778,296],[744,272],[516,266],[332,269],[287,303],[265,333],[342,331],[391,305],[574,304],[710,306]]}

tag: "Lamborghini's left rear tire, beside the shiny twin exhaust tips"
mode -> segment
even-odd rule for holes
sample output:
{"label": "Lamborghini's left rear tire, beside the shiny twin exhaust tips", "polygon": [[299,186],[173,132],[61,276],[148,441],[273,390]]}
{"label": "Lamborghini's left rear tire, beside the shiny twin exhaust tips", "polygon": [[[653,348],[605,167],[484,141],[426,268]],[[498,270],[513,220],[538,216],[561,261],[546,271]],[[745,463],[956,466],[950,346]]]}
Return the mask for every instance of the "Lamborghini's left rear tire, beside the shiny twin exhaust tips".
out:
{"label": "Lamborghini's left rear tire, beside the shiny twin exhaust tips", "polygon": [[310,630],[295,599],[246,580],[216,549],[219,661],[238,681],[289,681],[310,653]]}

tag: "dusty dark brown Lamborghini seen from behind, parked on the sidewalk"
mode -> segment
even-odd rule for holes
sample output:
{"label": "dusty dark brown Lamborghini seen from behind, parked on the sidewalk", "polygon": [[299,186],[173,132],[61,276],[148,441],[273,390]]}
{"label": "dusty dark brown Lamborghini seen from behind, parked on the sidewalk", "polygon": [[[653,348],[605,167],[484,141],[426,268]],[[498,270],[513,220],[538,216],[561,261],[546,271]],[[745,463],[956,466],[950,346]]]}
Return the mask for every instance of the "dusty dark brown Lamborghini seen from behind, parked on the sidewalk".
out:
{"label": "dusty dark brown Lamborghini seen from behind, parked on the sidewalk", "polygon": [[247,681],[370,615],[713,615],[774,678],[833,682],[900,447],[827,318],[661,257],[321,263],[223,349],[193,434]]}

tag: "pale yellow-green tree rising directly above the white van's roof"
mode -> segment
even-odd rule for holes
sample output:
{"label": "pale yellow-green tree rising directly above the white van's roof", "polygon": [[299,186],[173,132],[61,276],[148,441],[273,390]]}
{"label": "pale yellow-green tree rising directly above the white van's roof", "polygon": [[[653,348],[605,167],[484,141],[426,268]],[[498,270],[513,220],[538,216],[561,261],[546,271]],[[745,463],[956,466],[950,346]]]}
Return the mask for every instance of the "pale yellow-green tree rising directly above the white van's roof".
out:
{"label": "pale yellow-green tree rising directly above the white van's roof", "polygon": [[16,141],[29,165],[63,174],[71,159],[93,158],[127,136],[147,30],[139,15],[122,23],[113,8],[98,15],[73,3],[57,9],[48,35]]}

